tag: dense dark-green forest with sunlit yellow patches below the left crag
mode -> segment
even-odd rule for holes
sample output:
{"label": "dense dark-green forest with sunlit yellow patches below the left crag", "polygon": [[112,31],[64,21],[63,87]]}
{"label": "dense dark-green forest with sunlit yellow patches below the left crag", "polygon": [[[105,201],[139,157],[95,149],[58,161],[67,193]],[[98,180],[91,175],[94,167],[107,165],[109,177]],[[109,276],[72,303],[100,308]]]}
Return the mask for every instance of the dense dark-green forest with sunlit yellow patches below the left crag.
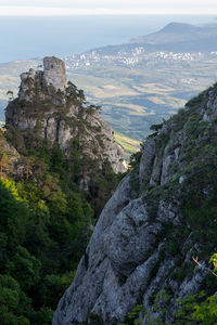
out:
{"label": "dense dark-green forest with sunlit yellow patches below the left crag", "polygon": [[85,161],[76,138],[69,157],[58,143],[26,150],[23,171],[14,174],[4,134],[0,130],[0,320],[2,325],[51,324],[120,176],[105,162],[100,172],[92,169],[94,193],[80,191]]}

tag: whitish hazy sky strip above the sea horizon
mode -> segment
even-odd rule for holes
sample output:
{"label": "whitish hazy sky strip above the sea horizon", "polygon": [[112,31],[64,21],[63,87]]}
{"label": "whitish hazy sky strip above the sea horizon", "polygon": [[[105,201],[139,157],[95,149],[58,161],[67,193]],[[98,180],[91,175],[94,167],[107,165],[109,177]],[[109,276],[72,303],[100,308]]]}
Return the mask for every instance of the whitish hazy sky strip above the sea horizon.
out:
{"label": "whitish hazy sky strip above the sea horizon", "polygon": [[0,15],[210,14],[216,0],[0,0]]}

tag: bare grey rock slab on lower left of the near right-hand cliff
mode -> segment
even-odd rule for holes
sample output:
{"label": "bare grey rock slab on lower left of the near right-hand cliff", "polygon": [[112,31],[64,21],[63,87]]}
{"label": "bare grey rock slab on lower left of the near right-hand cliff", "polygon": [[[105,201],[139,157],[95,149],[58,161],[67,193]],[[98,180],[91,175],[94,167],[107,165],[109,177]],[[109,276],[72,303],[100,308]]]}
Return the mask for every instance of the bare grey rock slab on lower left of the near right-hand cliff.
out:
{"label": "bare grey rock slab on lower left of the near right-hand cliff", "polygon": [[[149,260],[145,253],[161,225],[149,226],[143,203],[133,196],[128,176],[105,206],[87,249],[88,265],[85,259],[80,261],[73,285],[60,301],[53,324],[76,324],[86,320],[89,312],[101,315],[105,324],[117,324],[135,306],[141,285],[148,283],[157,259],[157,251]],[[139,224],[143,226],[138,229]]]}

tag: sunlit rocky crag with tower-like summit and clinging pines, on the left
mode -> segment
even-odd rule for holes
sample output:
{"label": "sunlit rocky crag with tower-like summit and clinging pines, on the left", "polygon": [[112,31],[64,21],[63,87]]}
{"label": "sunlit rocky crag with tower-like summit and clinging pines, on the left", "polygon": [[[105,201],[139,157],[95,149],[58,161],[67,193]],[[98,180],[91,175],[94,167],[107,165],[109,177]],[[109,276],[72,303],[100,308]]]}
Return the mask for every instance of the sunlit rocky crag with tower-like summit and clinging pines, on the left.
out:
{"label": "sunlit rocky crag with tower-like summit and clinging pines, on the left", "polygon": [[[7,126],[24,136],[27,148],[59,143],[69,155],[72,140],[77,139],[81,158],[88,157],[99,168],[108,161],[116,173],[125,171],[123,150],[113,130],[97,106],[87,105],[84,92],[66,83],[64,62],[44,57],[43,67],[43,72],[29,69],[21,75],[18,98],[7,107]],[[87,182],[84,171],[84,186]]]}

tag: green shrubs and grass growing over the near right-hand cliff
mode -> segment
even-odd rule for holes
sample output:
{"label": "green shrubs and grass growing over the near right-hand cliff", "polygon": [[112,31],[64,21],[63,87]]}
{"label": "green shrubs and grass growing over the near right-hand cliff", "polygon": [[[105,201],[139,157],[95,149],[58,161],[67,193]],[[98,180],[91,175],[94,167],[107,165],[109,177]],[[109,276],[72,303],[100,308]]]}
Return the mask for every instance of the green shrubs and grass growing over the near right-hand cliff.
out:
{"label": "green shrubs and grass growing over the near right-hand cliff", "polygon": [[[213,272],[216,271],[214,252],[217,249],[216,94],[217,84],[214,84],[189,101],[186,108],[180,109],[168,121],[152,126],[151,129],[155,133],[150,135],[150,139],[155,138],[159,155],[165,153],[166,147],[167,156],[171,155],[180,145],[174,140],[177,133],[181,134],[179,161],[169,164],[168,182],[155,185],[146,183],[144,192],[144,182],[139,182],[141,154],[132,156],[132,186],[148,204],[150,221],[156,220],[161,200],[177,206],[180,212],[176,223],[169,220],[163,222],[164,229],[158,235],[162,249],[152,274],[153,278],[156,278],[164,259],[175,259],[175,265],[161,289],[156,289],[149,297],[149,308],[138,304],[126,315],[122,325],[142,324],[143,318],[150,325],[212,325],[217,322],[217,277]],[[204,272],[201,283],[189,289],[193,294],[183,295],[176,301],[181,284],[184,283],[186,287],[190,288],[195,266]],[[176,312],[173,322],[169,322],[168,318],[173,314],[169,304],[173,304],[173,301],[176,301]]]}

